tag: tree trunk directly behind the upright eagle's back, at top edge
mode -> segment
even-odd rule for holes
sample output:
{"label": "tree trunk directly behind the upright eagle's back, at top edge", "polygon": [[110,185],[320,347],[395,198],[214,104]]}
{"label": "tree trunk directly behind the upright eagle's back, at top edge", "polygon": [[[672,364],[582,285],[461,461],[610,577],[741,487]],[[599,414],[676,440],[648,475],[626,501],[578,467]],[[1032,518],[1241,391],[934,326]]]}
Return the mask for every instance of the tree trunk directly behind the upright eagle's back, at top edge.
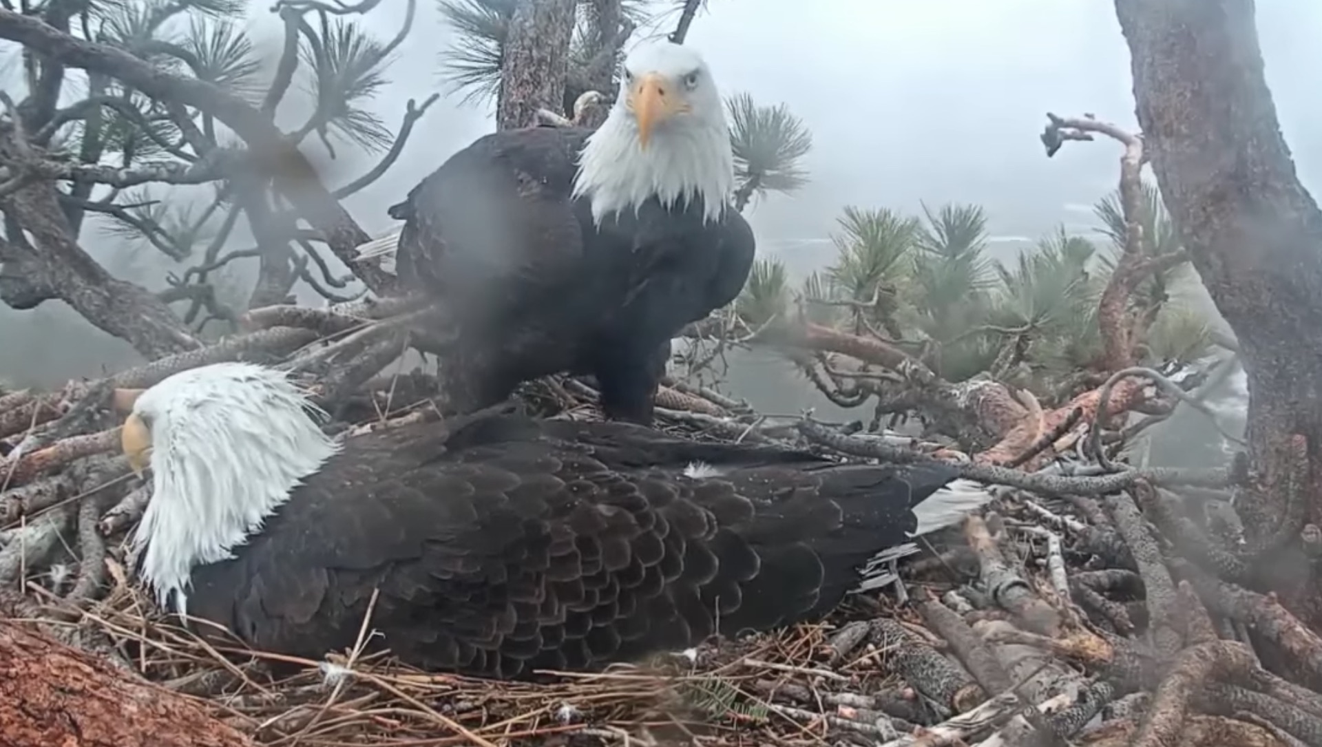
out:
{"label": "tree trunk directly behind the upright eagle's back, at top edge", "polygon": [[562,107],[576,7],[575,0],[520,0],[514,8],[500,70],[498,130],[531,127],[538,108]]}

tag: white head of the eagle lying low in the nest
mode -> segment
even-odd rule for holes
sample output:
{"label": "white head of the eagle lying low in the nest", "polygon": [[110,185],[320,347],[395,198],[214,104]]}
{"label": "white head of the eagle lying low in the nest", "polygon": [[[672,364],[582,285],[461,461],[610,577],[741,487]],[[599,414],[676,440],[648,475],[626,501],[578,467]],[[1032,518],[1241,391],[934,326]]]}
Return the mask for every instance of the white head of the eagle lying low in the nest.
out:
{"label": "white head of the eagle lying low in the nest", "polygon": [[193,567],[233,557],[340,448],[284,372],[253,364],[201,366],[116,394],[132,402],[124,455],[139,475],[152,469],[132,543],[157,603],[180,613]]}

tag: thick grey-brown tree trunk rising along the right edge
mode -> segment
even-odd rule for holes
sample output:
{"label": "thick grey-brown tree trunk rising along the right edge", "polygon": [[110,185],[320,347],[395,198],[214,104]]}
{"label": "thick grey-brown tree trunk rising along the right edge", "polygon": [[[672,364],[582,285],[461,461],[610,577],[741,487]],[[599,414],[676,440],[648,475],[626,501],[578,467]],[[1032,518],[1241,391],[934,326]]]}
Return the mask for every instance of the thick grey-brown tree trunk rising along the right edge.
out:
{"label": "thick grey-brown tree trunk rising along the right edge", "polygon": [[1248,374],[1253,485],[1236,506],[1251,537],[1289,539],[1260,575],[1322,628],[1322,584],[1296,555],[1322,520],[1322,212],[1281,136],[1253,1],[1116,0],[1116,15],[1162,197]]}

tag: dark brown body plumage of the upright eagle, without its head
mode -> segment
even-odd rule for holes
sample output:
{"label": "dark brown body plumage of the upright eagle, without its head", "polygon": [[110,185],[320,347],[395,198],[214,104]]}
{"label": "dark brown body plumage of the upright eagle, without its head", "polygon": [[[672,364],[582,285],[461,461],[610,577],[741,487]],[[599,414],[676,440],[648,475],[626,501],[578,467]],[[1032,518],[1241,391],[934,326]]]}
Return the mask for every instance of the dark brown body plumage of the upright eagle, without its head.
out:
{"label": "dark brown body plumage of the upright eagle, without its head", "polygon": [[486,135],[390,209],[405,221],[401,280],[461,323],[447,360],[465,407],[572,372],[596,377],[607,416],[648,424],[670,338],[748,278],[755,241],[735,210],[703,222],[701,204],[653,198],[595,225],[590,201],[571,196],[591,132]]}

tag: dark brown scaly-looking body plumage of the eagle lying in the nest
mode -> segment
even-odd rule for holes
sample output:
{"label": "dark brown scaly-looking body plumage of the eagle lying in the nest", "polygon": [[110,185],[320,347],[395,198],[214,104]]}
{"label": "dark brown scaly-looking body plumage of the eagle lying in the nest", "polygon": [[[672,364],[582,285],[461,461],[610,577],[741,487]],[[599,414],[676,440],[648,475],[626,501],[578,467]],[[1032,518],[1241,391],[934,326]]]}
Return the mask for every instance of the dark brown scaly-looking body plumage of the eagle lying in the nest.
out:
{"label": "dark brown scaly-looking body plumage of the eagle lying in the nest", "polygon": [[830,609],[956,473],[510,414],[385,430],[196,567],[189,613],[320,658],[379,587],[375,644],[415,665],[595,668]]}

